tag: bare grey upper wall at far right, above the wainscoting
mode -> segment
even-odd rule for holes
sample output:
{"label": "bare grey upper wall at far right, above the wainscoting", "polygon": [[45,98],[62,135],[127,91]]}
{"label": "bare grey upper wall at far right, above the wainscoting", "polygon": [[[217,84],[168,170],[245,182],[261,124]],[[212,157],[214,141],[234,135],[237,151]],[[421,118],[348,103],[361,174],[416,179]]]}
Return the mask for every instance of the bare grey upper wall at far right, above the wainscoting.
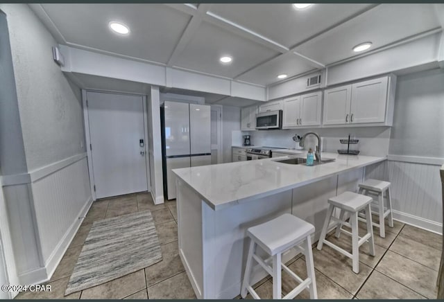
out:
{"label": "bare grey upper wall at far right, above the wainscoting", "polygon": [[390,154],[444,157],[444,70],[398,77]]}

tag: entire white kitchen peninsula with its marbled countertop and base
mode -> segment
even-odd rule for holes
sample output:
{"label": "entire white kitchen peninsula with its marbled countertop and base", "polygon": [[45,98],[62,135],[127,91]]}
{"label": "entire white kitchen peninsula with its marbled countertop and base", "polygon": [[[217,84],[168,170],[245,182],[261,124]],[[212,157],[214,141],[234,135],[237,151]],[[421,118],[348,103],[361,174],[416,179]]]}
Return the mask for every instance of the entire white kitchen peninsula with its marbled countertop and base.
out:
{"label": "entire white kitchen peninsula with its marbled countertop and base", "polygon": [[[314,224],[316,241],[327,199],[355,191],[365,167],[386,159],[326,152],[322,157],[335,161],[305,166],[280,163],[286,158],[280,157],[173,170],[180,258],[198,298],[232,299],[240,293],[248,227],[291,213]],[[253,278],[264,275],[257,271]]]}

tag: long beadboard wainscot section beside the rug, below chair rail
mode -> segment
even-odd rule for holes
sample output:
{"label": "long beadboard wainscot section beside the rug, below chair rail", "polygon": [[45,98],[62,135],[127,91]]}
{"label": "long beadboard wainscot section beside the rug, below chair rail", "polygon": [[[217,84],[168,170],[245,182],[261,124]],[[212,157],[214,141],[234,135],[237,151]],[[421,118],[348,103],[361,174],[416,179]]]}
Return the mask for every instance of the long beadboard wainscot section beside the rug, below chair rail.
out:
{"label": "long beadboard wainscot section beside the rug, below chair rail", "polygon": [[86,157],[33,181],[35,218],[44,266],[53,273],[83,217],[92,196]]}

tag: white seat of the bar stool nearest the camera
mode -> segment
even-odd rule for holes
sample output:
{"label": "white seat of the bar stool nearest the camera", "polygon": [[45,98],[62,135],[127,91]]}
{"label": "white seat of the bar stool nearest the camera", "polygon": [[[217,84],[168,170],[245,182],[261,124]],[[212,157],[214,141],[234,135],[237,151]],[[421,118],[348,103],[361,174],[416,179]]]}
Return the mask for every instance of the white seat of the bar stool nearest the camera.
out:
{"label": "white seat of the bar stool nearest the camera", "polygon": [[312,224],[285,213],[273,220],[250,227],[247,234],[254,238],[259,247],[273,256],[289,249],[289,247],[293,247],[313,232],[314,226]]}

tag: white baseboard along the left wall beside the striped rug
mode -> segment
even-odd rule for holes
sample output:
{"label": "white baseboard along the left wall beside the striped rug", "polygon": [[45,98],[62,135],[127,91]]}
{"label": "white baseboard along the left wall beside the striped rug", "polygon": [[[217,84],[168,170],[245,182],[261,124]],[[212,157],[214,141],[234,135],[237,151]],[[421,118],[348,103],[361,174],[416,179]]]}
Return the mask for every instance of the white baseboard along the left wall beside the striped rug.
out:
{"label": "white baseboard along the left wall beside the striped rug", "polygon": [[76,233],[80,228],[80,224],[82,224],[83,222],[83,218],[81,217],[86,216],[91,205],[92,196],[89,196],[87,202],[78,213],[77,218],[74,220],[74,222],[71,224],[71,227],[69,227],[68,231],[65,233],[65,236],[63,236],[56,249],[53,250],[51,256],[49,256],[49,258],[45,261],[46,276],[48,276],[48,280],[51,279],[51,277],[53,276],[58,264],[63,258],[63,255],[65,255],[69,245],[71,244],[71,241],[74,239],[74,236],[76,236]]}

